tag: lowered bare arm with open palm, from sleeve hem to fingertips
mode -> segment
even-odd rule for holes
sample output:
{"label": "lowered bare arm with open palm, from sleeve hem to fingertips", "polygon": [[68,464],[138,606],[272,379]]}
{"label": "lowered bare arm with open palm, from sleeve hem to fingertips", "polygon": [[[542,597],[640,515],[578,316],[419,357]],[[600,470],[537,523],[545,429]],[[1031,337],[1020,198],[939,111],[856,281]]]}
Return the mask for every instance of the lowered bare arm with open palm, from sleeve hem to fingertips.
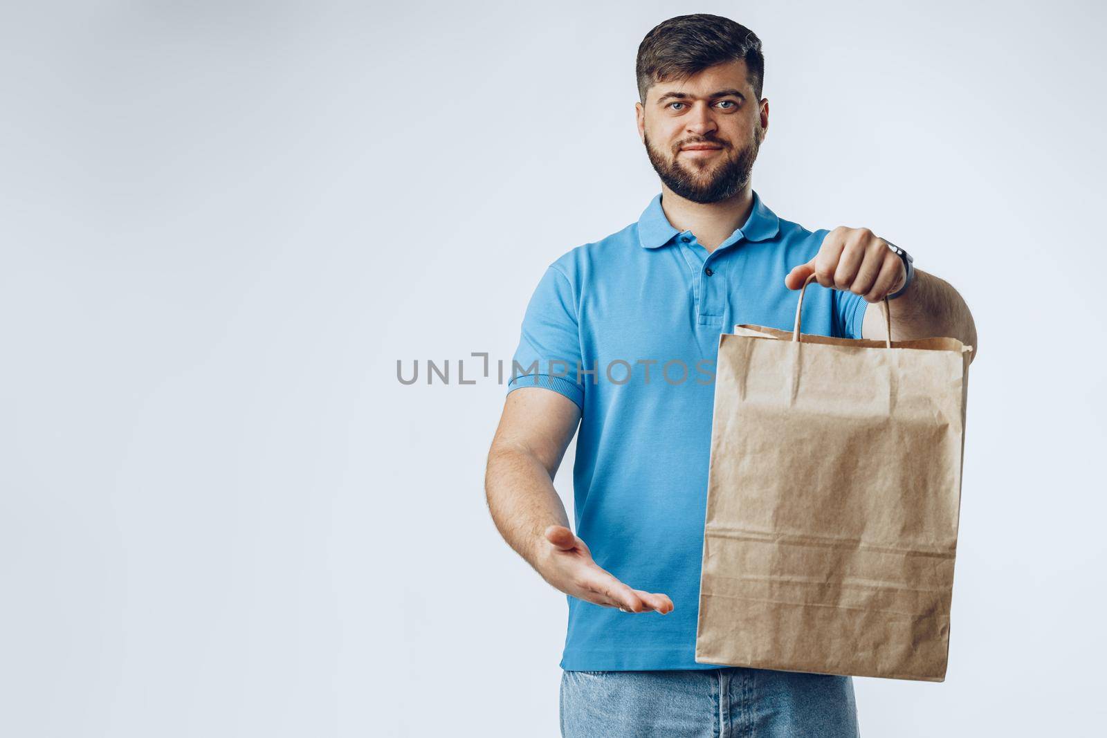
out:
{"label": "lowered bare arm with open palm, from sleeve hem to fingertips", "polygon": [[552,480],[579,423],[580,408],[557,392],[520,387],[508,394],[485,475],[493,521],[508,545],[561,592],[629,612],[669,613],[666,595],[620,582],[572,534]]}

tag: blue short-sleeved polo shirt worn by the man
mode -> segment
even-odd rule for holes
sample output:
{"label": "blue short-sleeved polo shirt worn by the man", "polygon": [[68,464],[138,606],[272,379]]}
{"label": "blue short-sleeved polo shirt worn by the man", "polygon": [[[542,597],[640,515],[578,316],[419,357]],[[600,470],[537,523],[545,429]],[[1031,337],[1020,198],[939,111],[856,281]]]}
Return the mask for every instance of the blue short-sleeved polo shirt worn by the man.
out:
{"label": "blue short-sleeved polo shirt worn by the man", "polygon": [[[828,232],[779,219],[754,193],[749,218],[708,253],[661,197],[549,266],[508,384],[580,406],[576,533],[622,582],[673,601],[660,615],[569,596],[567,671],[712,668],[694,653],[718,336],[738,323],[790,331],[799,292],[784,277]],[[800,330],[858,339],[867,304],[813,282]]]}

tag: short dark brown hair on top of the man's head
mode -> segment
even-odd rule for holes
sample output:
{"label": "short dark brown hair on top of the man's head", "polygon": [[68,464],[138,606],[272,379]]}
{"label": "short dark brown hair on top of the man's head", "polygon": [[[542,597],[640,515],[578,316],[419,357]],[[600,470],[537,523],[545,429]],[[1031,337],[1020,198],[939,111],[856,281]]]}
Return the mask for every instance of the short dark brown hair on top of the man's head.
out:
{"label": "short dark brown hair on top of the man's head", "polygon": [[761,100],[765,82],[765,56],[757,34],[730,18],[695,13],[659,23],[638,46],[638,94],[658,82],[684,80],[708,66],[743,60],[748,81]]}

